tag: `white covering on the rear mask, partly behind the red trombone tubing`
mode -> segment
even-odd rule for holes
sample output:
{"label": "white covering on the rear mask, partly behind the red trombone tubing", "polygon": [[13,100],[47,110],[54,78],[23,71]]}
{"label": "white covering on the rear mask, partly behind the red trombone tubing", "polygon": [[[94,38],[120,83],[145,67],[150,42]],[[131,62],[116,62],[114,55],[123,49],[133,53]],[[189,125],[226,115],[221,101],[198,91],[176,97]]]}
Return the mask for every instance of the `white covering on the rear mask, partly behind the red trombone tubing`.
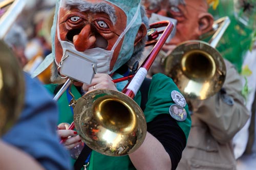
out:
{"label": "white covering on the rear mask, partly behind the red trombone tubing", "polygon": [[[151,24],[151,23],[155,23],[155,22],[159,22],[159,21],[163,21],[163,20],[171,21],[174,24],[174,30],[172,31],[172,33],[170,33],[170,35],[168,36],[168,38],[165,41],[166,43],[168,43],[175,36],[177,20],[174,19],[174,18],[169,18],[169,17],[166,17],[166,16],[162,16],[162,15],[159,15],[159,14],[152,13],[148,22]],[[157,31],[158,32],[163,31],[164,29],[165,29],[164,27],[158,28]]]}

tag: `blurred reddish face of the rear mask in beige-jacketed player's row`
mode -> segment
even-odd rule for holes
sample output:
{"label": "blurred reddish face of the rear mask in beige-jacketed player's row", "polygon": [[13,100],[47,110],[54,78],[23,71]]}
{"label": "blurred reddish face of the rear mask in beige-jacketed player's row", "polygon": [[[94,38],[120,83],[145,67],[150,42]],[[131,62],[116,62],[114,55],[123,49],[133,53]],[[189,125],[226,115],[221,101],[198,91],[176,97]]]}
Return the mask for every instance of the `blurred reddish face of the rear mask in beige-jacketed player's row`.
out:
{"label": "blurred reddish face of the rear mask in beige-jacketed player's row", "polygon": [[154,1],[145,1],[145,7],[148,17],[152,13],[177,19],[175,37],[168,43],[177,45],[180,42],[198,39],[201,32],[200,14],[207,12],[207,4],[203,0],[186,0],[186,5],[173,6],[169,0],[162,0],[161,3]]}

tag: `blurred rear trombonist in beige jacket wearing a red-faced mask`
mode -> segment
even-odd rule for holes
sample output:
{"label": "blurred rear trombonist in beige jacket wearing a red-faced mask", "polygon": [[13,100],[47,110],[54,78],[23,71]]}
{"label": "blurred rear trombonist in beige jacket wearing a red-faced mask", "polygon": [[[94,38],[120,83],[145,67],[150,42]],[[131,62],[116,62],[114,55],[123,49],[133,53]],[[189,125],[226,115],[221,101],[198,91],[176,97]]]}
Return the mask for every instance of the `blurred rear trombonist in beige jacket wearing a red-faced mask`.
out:
{"label": "blurred rear trombonist in beige jacket wearing a red-faced mask", "polygon": [[[144,1],[149,17],[155,13],[177,20],[174,38],[162,48],[167,55],[180,43],[198,40],[201,35],[212,30],[214,18],[208,13],[207,2],[211,4],[217,1]],[[249,111],[242,95],[241,77],[230,62],[225,59],[224,61],[226,79],[220,91],[205,100],[186,98],[192,125],[177,169],[236,169],[232,138],[246,124]],[[155,68],[148,76],[151,77],[157,72],[164,72],[161,60],[155,63]]]}

